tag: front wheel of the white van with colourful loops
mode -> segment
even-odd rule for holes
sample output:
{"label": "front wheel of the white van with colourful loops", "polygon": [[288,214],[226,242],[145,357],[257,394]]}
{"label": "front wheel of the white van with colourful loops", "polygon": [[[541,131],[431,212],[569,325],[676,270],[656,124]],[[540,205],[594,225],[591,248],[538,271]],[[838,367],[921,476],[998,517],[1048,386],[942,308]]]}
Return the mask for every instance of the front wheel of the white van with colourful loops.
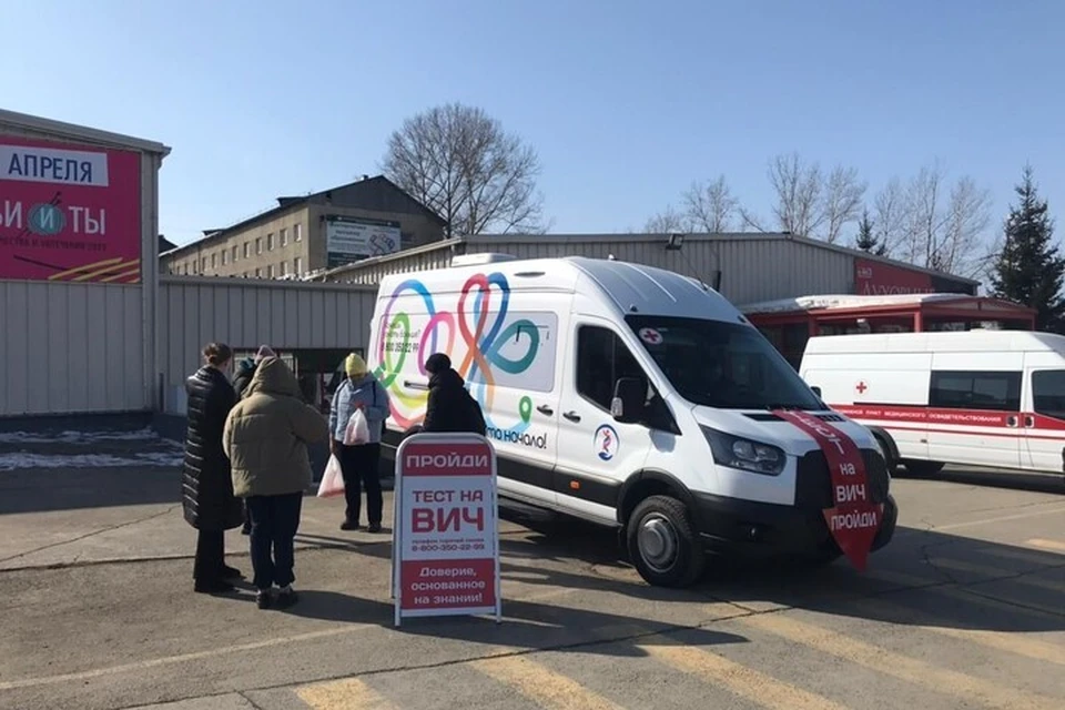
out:
{"label": "front wheel of the white van with colourful loops", "polygon": [[629,516],[627,538],[629,557],[649,585],[687,587],[702,575],[706,554],[688,508],[676,498],[640,501]]}

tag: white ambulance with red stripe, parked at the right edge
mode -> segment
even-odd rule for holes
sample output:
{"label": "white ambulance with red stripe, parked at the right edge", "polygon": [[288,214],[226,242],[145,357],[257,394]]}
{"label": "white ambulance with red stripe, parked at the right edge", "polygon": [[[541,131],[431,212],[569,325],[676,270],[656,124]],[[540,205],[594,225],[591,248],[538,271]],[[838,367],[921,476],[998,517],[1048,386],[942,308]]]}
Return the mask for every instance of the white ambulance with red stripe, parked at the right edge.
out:
{"label": "white ambulance with red stripe, parked at the right edge", "polygon": [[1065,336],[1031,331],[810,338],[799,373],[870,427],[889,467],[1065,471]]}

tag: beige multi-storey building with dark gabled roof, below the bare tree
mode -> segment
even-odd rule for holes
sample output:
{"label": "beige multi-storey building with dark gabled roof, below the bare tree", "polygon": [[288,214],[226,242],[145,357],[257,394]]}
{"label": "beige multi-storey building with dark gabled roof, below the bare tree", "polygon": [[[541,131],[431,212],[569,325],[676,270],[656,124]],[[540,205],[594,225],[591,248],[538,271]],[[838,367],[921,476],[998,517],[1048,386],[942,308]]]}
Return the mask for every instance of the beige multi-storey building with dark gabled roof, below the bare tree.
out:
{"label": "beige multi-storey building with dark gabled roof, below the bare tree", "polygon": [[301,278],[444,239],[447,223],[387,178],[363,180],[277,206],[162,255],[182,276]]}

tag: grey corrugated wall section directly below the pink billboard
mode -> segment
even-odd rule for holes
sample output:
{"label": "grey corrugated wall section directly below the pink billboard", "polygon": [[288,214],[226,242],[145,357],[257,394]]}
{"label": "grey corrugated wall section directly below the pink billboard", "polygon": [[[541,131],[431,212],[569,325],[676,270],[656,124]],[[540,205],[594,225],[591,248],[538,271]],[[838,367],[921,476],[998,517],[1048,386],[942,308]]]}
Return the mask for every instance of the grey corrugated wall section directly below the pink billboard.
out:
{"label": "grey corrugated wall section directly below the pink billboard", "polygon": [[0,416],[142,410],[141,286],[0,282]]}

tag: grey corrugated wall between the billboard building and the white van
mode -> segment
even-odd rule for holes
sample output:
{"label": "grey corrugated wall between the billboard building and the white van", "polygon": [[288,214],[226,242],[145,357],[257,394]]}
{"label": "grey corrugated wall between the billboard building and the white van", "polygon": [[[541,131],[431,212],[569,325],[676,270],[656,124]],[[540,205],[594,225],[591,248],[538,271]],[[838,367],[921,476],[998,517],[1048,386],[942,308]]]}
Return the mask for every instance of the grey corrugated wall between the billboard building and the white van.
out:
{"label": "grey corrugated wall between the billboard building and the white van", "polygon": [[263,343],[297,348],[365,348],[375,287],[243,278],[162,276],[159,342],[164,392],[181,387],[212,341],[235,349]]}

